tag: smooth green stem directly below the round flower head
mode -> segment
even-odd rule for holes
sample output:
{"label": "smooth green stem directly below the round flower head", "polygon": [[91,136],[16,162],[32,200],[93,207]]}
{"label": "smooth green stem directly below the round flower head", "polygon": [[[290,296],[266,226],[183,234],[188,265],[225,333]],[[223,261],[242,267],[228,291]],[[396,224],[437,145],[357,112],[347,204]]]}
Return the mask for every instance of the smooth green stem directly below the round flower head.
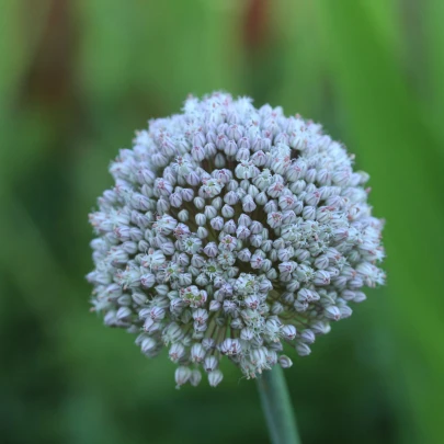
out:
{"label": "smooth green stem directly below the round flower head", "polygon": [[257,379],[262,410],[273,444],[300,444],[287,385],[282,368],[274,365]]}

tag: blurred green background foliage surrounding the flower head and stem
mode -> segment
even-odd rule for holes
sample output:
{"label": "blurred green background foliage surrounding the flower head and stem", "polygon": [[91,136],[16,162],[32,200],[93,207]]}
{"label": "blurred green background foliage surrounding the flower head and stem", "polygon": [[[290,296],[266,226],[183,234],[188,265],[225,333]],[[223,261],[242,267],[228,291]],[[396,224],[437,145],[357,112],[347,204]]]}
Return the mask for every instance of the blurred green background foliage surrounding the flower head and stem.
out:
{"label": "blurred green background foliage surrounding the flower head and stem", "polygon": [[286,371],[303,442],[444,443],[443,4],[0,0],[0,442],[269,442],[252,382],[175,390],[84,280],[117,149],[224,89],[322,122],[387,219],[387,287]]}

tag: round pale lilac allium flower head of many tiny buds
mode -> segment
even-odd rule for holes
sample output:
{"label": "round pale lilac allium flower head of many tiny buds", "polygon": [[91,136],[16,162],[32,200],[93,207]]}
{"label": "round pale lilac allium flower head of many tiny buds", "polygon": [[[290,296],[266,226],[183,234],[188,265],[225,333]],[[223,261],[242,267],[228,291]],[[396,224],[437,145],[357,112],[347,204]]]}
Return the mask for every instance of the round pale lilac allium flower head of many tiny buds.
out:
{"label": "round pale lilac allium flower head of many tiny buds", "polygon": [[382,220],[368,175],[300,116],[247,98],[189,98],[149,122],[111,164],[115,186],[90,215],[92,303],[104,322],[163,346],[178,387],[216,386],[225,355],[247,377],[289,367],[364,286],[384,283]]}

